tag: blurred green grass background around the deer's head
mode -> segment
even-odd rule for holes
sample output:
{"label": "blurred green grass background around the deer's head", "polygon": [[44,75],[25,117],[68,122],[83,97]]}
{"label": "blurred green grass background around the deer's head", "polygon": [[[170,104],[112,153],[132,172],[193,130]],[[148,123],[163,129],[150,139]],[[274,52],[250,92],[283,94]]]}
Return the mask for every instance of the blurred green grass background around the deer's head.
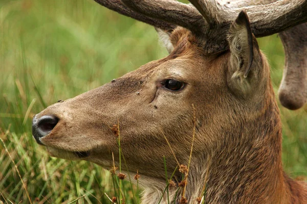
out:
{"label": "blurred green grass background around the deer's head", "polygon": [[[270,61],[277,93],[284,65],[281,42],[276,35],[258,41]],[[0,137],[32,200],[70,203],[85,195],[79,203],[111,203],[104,195],[114,196],[109,172],[88,162],[49,157],[32,138],[32,116],[58,99],[166,55],[155,29],[91,0],[0,1]],[[307,176],[307,107],[279,107],[284,169],[292,177]],[[131,190],[125,183],[128,203],[133,203]],[[2,143],[0,193],[0,203],[29,203]]]}

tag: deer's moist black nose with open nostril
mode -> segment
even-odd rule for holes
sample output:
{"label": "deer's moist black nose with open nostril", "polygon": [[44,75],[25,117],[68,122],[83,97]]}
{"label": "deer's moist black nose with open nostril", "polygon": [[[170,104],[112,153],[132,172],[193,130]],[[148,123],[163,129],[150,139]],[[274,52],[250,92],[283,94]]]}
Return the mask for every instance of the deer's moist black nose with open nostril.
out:
{"label": "deer's moist black nose with open nostril", "polygon": [[40,118],[33,118],[32,134],[38,144],[42,144],[41,137],[48,135],[58,123],[59,119],[53,115],[44,115]]}

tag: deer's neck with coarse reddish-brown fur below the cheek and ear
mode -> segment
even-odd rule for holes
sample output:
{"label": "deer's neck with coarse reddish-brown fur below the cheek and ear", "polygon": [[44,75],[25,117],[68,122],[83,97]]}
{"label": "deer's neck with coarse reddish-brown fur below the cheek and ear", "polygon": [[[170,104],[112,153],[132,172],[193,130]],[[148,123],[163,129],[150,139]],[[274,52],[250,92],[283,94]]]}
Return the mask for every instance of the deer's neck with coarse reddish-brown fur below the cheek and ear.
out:
{"label": "deer's neck with coarse reddish-brown fur below the cheek and ear", "polygon": [[[208,159],[206,203],[281,203],[281,122],[274,99],[262,113],[239,122]],[[223,136],[221,136],[223,137]]]}

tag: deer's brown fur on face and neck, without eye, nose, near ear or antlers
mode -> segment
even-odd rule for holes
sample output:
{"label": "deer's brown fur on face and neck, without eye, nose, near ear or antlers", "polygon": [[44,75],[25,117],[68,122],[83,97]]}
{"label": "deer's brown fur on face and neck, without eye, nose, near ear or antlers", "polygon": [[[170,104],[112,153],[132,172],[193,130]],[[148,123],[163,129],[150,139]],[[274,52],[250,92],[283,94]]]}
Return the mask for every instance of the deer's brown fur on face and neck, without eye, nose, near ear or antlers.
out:
{"label": "deer's brown fur on face and neck, without eye, nose, near ear or antlers", "polygon": [[[254,48],[248,96],[231,88],[234,65],[230,52],[205,56],[195,36],[177,28],[170,36],[173,52],[75,98],[54,104],[36,115],[55,115],[59,122],[41,138],[52,156],[82,158],[104,168],[118,164],[118,145],[111,126],[119,121],[121,147],[130,171],[142,175],[143,203],[157,203],[165,188],[163,156],[168,173],[188,163],[197,126],[186,197],[194,203],[207,184],[206,203],[307,203],[307,191],[282,170],[281,122],[270,80],[270,69]],[[187,83],[169,92],[160,81]],[[256,83],[253,85],[253,83]],[[139,94],[138,94],[139,93]],[[207,175],[207,180],[205,177]],[[175,177],[180,180],[180,173]],[[170,192],[174,196],[174,192]],[[179,199],[179,198],[178,198]]]}

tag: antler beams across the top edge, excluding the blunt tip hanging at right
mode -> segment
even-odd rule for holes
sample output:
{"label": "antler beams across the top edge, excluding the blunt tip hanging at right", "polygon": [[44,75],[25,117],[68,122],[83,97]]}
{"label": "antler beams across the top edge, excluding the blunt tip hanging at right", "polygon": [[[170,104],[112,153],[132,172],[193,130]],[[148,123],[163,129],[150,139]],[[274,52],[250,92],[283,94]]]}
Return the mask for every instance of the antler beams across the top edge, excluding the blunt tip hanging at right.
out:
{"label": "antler beams across the top edge, excluding the blunt tip hanging at right", "polygon": [[243,8],[229,8],[214,0],[191,0],[196,9],[170,0],[95,1],[163,30],[169,30],[169,27],[173,29],[175,25],[187,28],[200,37],[207,54],[228,49],[227,31],[242,10],[248,13],[251,29],[256,37],[279,33],[307,21],[307,0],[281,0],[268,5]]}

